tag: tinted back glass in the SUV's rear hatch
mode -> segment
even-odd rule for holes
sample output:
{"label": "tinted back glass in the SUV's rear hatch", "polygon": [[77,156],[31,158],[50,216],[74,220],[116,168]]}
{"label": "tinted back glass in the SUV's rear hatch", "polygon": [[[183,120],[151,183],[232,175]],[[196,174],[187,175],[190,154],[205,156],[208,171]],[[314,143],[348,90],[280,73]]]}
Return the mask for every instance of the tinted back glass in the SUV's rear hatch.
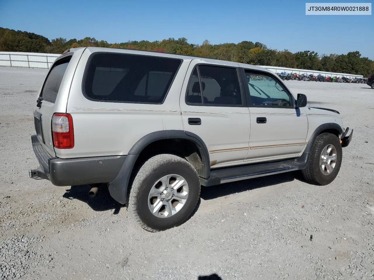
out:
{"label": "tinted back glass in the SUV's rear hatch", "polygon": [[60,61],[56,62],[55,65],[53,65],[53,68],[49,72],[44,83],[42,93],[40,94],[40,97],[42,97],[44,100],[53,103],[56,101],[57,93],[70,59],[71,56],[67,57],[66,59],[61,59]]}

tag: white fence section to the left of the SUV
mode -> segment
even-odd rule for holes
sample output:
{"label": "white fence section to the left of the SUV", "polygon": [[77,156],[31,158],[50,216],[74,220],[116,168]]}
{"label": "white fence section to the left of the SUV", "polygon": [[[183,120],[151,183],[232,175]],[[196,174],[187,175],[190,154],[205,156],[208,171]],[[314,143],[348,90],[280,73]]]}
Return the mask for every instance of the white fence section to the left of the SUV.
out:
{"label": "white fence section to the left of the SUV", "polygon": [[0,66],[48,69],[59,56],[54,53],[0,52]]}

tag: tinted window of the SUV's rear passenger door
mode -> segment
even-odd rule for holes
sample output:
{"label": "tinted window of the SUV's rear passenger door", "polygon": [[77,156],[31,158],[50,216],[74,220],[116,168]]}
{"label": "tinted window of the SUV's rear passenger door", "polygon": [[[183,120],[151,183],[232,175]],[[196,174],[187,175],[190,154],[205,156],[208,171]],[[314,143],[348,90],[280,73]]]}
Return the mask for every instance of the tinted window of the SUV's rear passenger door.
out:
{"label": "tinted window of the SUV's rear passenger door", "polygon": [[197,66],[188,85],[186,102],[204,106],[242,105],[237,70],[222,66]]}

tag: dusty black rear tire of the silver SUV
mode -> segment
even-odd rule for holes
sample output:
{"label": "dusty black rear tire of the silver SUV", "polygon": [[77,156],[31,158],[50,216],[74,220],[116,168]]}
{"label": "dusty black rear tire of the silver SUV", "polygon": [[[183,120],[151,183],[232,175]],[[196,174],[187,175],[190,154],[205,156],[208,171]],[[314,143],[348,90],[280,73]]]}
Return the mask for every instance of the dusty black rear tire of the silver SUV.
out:
{"label": "dusty black rear tire of the silver SUV", "polygon": [[[164,178],[163,183],[160,181],[162,178]],[[185,182],[180,185],[182,187],[178,187],[178,189],[176,187],[176,190],[170,188],[170,183],[176,182],[178,184],[178,181],[183,181],[182,179]],[[163,193],[163,196],[161,196],[158,193],[164,187],[169,187],[169,192]],[[157,193],[157,196],[150,198],[151,190],[153,193]],[[187,197],[185,195],[186,190]],[[184,194],[186,200],[184,203],[179,204],[182,200],[170,198],[169,195],[172,195],[172,193],[173,197],[175,195],[174,198]],[[168,201],[166,201],[167,196],[169,196]],[[185,159],[175,155],[161,154],[148,159],[139,169],[130,190],[128,211],[142,228],[156,232],[177,227],[186,222],[196,208],[199,197],[200,178],[196,169]],[[157,206],[160,205],[159,203],[162,206],[159,210],[156,210]],[[173,206],[173,208],[167,208],[168,205],[170,207]],[[151,212],[151,208],[156,214]],[[174,214],[173,211],[177,212]],[[172,212],[171,216],[166,217],[169,212]]]}

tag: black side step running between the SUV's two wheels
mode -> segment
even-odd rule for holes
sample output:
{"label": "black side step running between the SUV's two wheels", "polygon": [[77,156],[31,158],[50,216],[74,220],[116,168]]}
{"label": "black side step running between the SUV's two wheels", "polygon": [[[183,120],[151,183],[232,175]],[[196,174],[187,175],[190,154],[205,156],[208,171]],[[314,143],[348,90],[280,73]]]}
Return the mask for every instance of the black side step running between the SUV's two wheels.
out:
{"label": "black side step running between the SUV's two wheels", "polygon": [[212,169],[209,179],[200,178],[200,181],[203,186],[214,186],[298,169],[299,165],[294,160],[241,165],[239,167]]}

